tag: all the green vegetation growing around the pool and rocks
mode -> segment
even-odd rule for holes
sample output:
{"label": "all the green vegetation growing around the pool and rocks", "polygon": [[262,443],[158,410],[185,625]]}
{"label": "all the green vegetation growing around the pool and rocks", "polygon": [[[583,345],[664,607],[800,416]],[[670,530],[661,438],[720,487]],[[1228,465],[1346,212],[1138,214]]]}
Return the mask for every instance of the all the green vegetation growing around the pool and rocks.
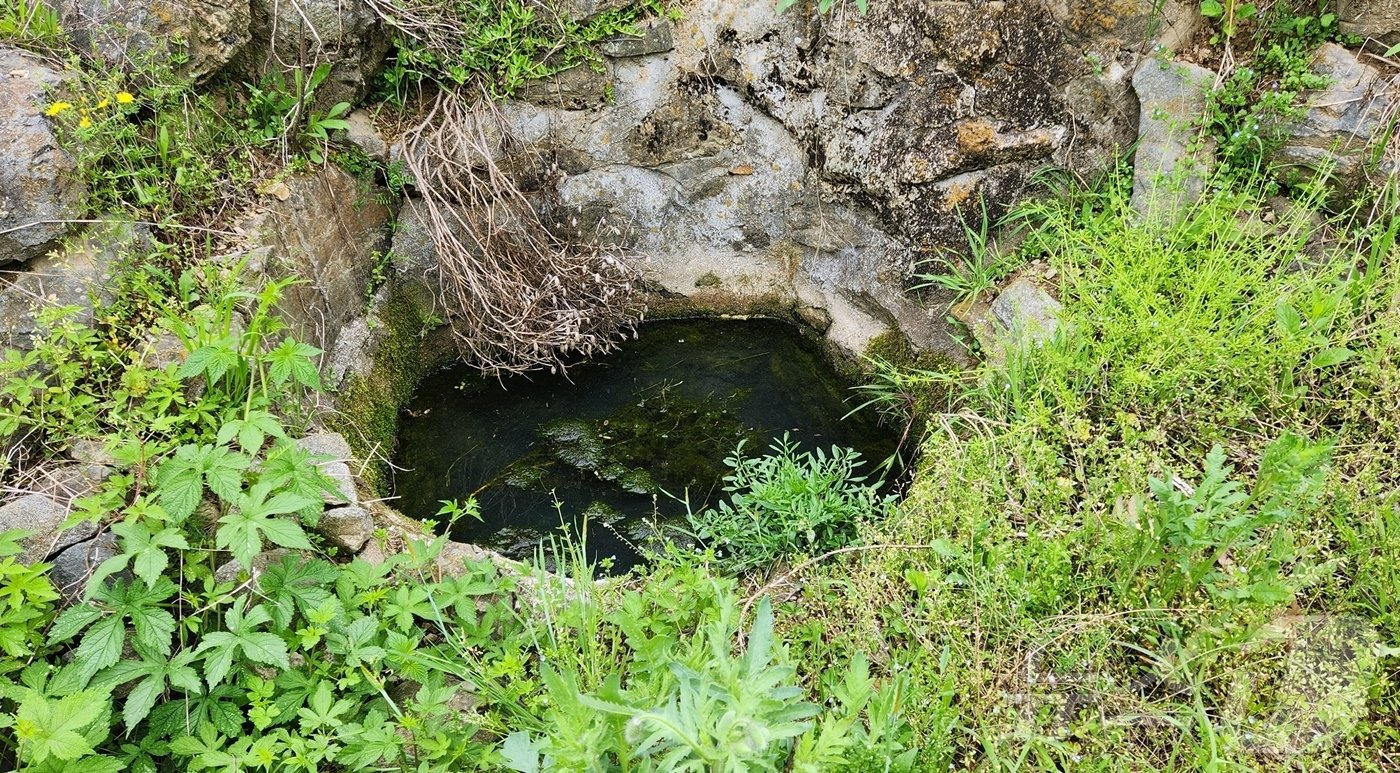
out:
{"label": "all the green vegetation growing around the pool and rocks", "polygon": [[[556,28],[514,0],[395,7],[461,35],[405,18],[399,98],[508,94],[662,10]],[[1022,206],[1005,259],[986,210],[966,227],[973,260],[924,279],[967,298],[1044,260],[1058,332],[970,371],[875,347],[903,361],[876,365],[867,409],[921,451],[902,501],[850,451],[741,445],[729,500],[692,514],[699,549],[603,581],[581,546],[518,566],[412,535],[377,535],[378,563],[323,542],[343,493],[293,440],[321,353],[277,319],[288,283],[249,288],[209,237],[295,169],[339,158],[391,190],[400,172],[335,153],[349,105],[312,108],[325,70],[196,90],[81,63],[45,109],[91,213],[154,241],[95,321],[48,309],[0,360],[6,464],[95,441],[113,473],[71,521],[115,538],[71,604],[0,534],[0,767],[1393,769],[1400,218],[1386,199],[1320,224],[1267,204],[1261,158],[1320,85],[1306,63],[1336,18],[1203,10],[1259,43],[1212,95],[1225,174],[1169,228],[1137,221],[1121,172]],[[62,46],[25,0],[0,36]],[[426,305],[391,290],[388,354],[342,395],[371,448],[427,367]]]}

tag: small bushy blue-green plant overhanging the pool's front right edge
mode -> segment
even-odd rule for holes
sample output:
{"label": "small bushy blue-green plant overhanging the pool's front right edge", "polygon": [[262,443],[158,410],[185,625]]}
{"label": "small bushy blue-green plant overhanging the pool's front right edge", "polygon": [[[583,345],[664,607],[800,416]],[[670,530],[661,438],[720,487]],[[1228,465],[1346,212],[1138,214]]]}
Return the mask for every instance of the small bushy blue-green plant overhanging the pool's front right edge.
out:
{"label": "small bushy blue-green plant overhanging the pool's front right edge", "polygon": [[879,486],[858,473],[864,461],[854,450],[799,451],[784,436],[770,451],[745,457],[741,443],[725,459],[729,499],[689,515],[690,528],[731,571],[851,545],[861,524],[890,506]]}

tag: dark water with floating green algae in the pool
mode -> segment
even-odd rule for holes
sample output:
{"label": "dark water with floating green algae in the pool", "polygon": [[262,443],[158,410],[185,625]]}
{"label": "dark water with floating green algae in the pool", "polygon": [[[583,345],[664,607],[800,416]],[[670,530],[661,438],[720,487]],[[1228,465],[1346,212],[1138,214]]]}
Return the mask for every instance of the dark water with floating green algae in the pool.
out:
{"label": "dark water with floating green algae in the pool", "polygon": [[[815,342],[776,321],[648,322],[637,340],[568,378],[504,384],[458,367],[428,377],[403,416],[399,507],[431,518],[475,494],[482,521],[452,538],[529,557],[561,527],[587,529],[591,560],[637,564],[657,524],[715,504],[741,440],[766,451],[788,433],[804,450],[847,445],[869,471],[896,436],[855,402]],[[557,503],[557,504],[556,504]]]}

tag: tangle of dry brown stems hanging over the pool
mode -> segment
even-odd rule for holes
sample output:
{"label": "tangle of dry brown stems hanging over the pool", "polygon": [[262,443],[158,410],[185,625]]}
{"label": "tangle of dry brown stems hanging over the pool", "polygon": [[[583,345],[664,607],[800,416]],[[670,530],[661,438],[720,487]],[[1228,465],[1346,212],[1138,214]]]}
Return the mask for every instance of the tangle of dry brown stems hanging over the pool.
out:
{"label": "tangle of dry brown stems hanging over the pool", "polygon": [[[459,43],[461,32],[433,8],[413,15],[395,0],[371,6],[430,48]],[[421,196],[441,301],[463,356],[500,374],[557,370],[613,349],[643,311],[640,276],[615,239],[546,225],[549,192],[526,195],[511,174],[542,164],[528,148],[508,147],[500,112],[479,84],[444,88],[426,105],[402,137],[403,162]]]}

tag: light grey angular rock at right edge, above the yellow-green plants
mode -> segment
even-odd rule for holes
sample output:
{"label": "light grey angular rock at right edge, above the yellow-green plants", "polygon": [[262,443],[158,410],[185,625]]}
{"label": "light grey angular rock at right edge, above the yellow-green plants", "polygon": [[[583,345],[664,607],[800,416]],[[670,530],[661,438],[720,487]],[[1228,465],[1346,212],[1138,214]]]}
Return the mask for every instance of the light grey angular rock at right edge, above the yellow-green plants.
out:
{"label": "light grey angular rock at right edge, above the yellow-green plants", "polygon": [[1366,151],[1385,133],[1386,113],[1400,101],[1400,83],[1387,81],[1336,43],[1317,50],[1313,70],[1330,85],[1308,94],[1308,111],[1274,151],[1273,164],[1287,185],[1326,175],[1331,202],[1344,204],[1366,181]]}

